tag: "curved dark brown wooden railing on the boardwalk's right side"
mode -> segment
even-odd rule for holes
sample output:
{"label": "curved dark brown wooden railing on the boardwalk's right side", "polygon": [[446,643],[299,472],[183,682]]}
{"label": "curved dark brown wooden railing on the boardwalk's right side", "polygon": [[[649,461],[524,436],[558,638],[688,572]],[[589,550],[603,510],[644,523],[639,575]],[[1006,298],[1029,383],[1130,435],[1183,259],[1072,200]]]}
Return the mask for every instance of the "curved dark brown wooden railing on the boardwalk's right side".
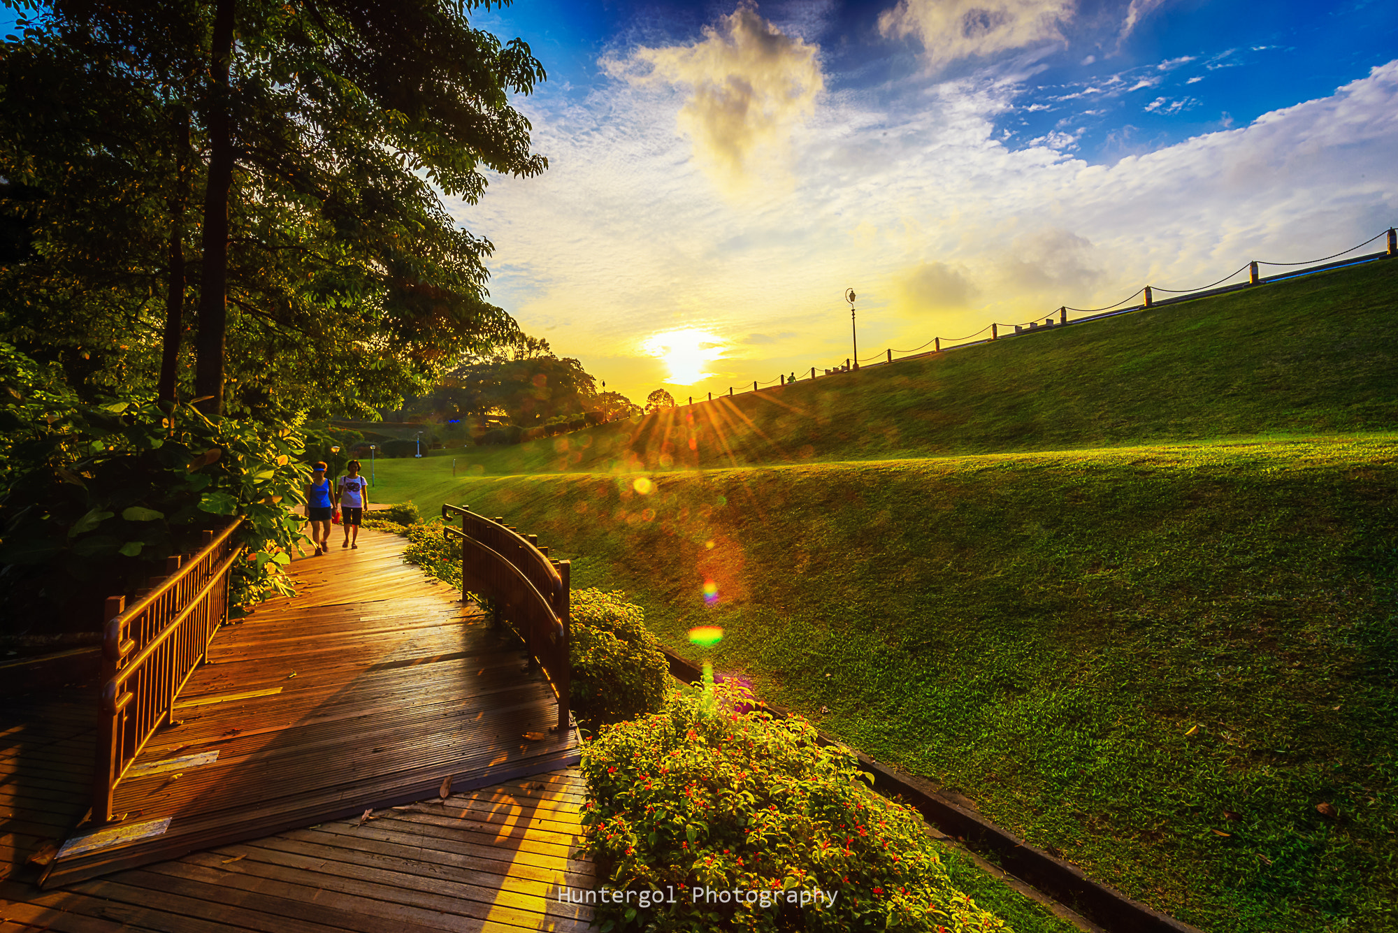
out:
{"label": "curved dark brown wooden railing on the boardwalk's right side", "polygon": [[460,517],[461,528],[443,528],[461,539],[461,598],[474,592],[495,605],[495,622],[507,620],[524,638],[530,663],[544,668],[558,694],[558,730],[569,728],[568,661],[569,575],[572,564],[549,560],[537,535],[521,535],[503,518],[485,518],[460,506],[442,506],[442,518]]}

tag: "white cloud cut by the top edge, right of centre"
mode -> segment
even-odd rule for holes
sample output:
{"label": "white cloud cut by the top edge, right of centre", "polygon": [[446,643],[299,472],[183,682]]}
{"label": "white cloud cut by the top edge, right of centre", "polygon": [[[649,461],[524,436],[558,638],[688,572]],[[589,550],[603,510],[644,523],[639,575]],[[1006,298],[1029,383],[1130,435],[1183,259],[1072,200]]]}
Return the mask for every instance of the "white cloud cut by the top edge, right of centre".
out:
{"label": "white cloud cut by the top edge, right of centre", "polygon": [[1074,0],[899,0],[879,32],[914,38],[930,64],[1062,42]]}

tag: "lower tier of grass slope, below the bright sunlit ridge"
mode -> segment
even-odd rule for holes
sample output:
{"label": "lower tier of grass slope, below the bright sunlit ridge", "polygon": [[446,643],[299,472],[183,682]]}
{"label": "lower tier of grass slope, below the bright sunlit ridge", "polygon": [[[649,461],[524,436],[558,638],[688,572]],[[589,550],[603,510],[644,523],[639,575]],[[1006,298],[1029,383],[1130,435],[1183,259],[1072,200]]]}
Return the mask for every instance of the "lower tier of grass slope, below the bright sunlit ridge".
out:
{"label": "lower tier of grass slope, below the bright sunlit ridge", "polygon": [[[959,786],[997,823],[1053,846],[1131,897],[1211,930],[1265,930],[1274,922],[1346,929],[1325,922],[1327,915],[1346,913],[1367,918],[1369,929],[1378,929],[1373,923],[1394,897],[1391,872],[1385,877],[1366,869],[1363,886],[1355,872],[1369,858],[1366,852],[1392,845],[1392,837],[1384,835],[1384,827],[1394,824],[1392,786],[1373,779],[1373,767],[1391,767],[1394,753],[1391,742],[1384,746],[1360,733],[1391,730],[1398,722],[1391,691],[1384,700],[1373,690],[1374,672],[1356,672],[1353,665],[1359,663],[1356,651],[1367,651],[1377,665],[1392,658],[1391,636],[1383,642],[1374,616],[1376,587],[1388,584],[1366,577],[1364,567],[1388,573],[1391,581],[1391,554],[1384,548],[1394,541],[1392,506],[1385,504],[1395,493],[1394,460],[1391,440],[1336,439],[658,473],[651,476],[658,490],[649,499],[656,508],[650,520],[644,508],[626,506],[629,478],[482,478],[460,480],[453,489],[457,501],[509,515],[512,524],[540,534],[555,553],[580,553],[575,563],[580,585],[628,589],[671,644],[705,613],[695,596],[696,578],[717,578],[730,602],[710,615],[735,636],[726,640],[720,661],[748,669],[763,696],[811,715],[881,760]],[[960,490],[931,494],[928,482]],[[805,490],[805,499],[797,489]],[[619,508],[630,524],[622,518],[612,527],[597,510],[586,517],[575,511],[584,501],[601,504],[604,494],[607,508]],[[1055,506],[1074,494],[1079,496],[1074,510]],[[905,511],[916,521],[892,518],[899,501],[911,503]],[[679,510],[705,506],[710,513],[703,531],[706,541],[717,542],[716,549],[684,545],[682,535],[663,531],[667,522],[677,531]],[[1149,528],[1131,529],[1131,522],[1142,521]],[[952,534],[953,525],[965,532]],[[928,528],[941,528],[941,536],[927,538]],[[802,535],[809,548],[794,546]],[[1163,556],[1146,559],[1152,552],[1139,549],[1141,535]],[[988,545],[977,538],[1001,542],[995,545],[1000,552],[987,552]],[[1355,550],[1367,546],[1366,541],[1374,553]],[[677,548],[689,549],[670,561],[678,570],[647,563],[647,554]],[[1044,548],[1051,557],[1047,563],[1036,556]],[[793,550],[805,554],[804,574],[779,573],[780,566],[763,560],[769,552]],[[903,560],[881,570],[867,559],[871,553]],[[822,554],[844,554],[863,570],[832,568],[821,563]],[[938,595],[916,566],[956,566],[967,554],[994,559],[995,575],[987,578],[995,589],[990,605],[976,619],[952,612],[941,630],[928,629],[949,648],[951,661],[909,668],[899,654],[907,638],[892,637],[871,606],[878,603],[884,617],[927,627],[918,599],[951,610],[965,602],[966,591],[956,591],[962,594],[956,598],[955,592]],[[1054,577],[1054,561],[1071,563],[1075,575]],[[863,582],[850,577],[860,573]],[[826,591],[797,592],[791,581],[809,577],[825,581]],[[1179,599],[1142,598],[1181,587],[1190,592],[1181,591]],[[905,595],[892,598],[889,588]],[[1018,595],[1007,596],[1001,592],[1007,589]],[[871,592],[879,599],[871,599]],[[797,596],[815,601],[829,619],[793,610]],[[1062,609],[1079,603],[1095,609]],[[958,641],[958,631],[986,629],[995,619],[1018,620],[1022,637],[1000,626],[998,638]],[[1058,619],[1058,627],[1043,629],[1043,619]],[[1068,630],[1061,629],[1065,619],[1074,623]],[[1261,624],[1261,634],[1254,623]],[[1081,658],[1054,654],[1054,638],[1061,641],[1074,626],[1096,633],[1092,652]],[[1121,638],[1134,640],[1139,651],[1120,649]],[[1053,663],[1036,663],[1043,658]],[[1093,690],[1128,676],[1135,665],[1163,669],[1170,677],[1135,684],[1139,693],[1131,698],[1149,715],[1132,712],[1116,697],[1111,710],[1130,726],[1123,732],[1095,718],[1102,694]],[[899,689],[909,670],[927,679],[928,690],[949,683],[941,696],[956,701],[955,708],[909,707],[907,691]],[[1246,683],[1218,693],[1213,684],[1225,683],[1220,672]],[[1036,687],[1046,677],[1057,684],[1054,690]],[[1268,703],[1285,700],[1258,686],[1268,679],[1276,680],[1278,690],[1292,691],[1276,728],[1248,718],[1260,696]],[[1271,710],[1268,703],[1261,705]],[[830,712],[822,715],[822,705]],[[1334,705],[1342,710],[1329,710]],[[1001,719],[972,712],[987,708]],[[945,751],[909,746],[893,728],[900,718],[923,723],[920,729],[932,722],[952,728],[967,717],[1016,746],[1021,756],[1036,749],[1030,757],[1062,760],[1046,771],[1016,770],[1012,757],[997,757],[987,743],[953,736],[973,751],[962,767],[948,771],[938,757]],[[1236,717],[1243,725],[1230,722]],[[1047,733],[1061,733],[1061,742],[1046,737],[1044,723]],[[1186,737],[1194,726],[1199,729]],[[1288,737],[1282,726],[1296,726],[1296,735]],[[1095,729],[1104,732],[1093,735]],[[1357,749],[1331,754],[1341,739],[1377,744],[1363,754]],[[1310,754],[1307,743],[1327,753]],[[1116,775],[1097,768],[1088,781],[1075,781],[1071,768],[1065,770],[1075,754],[1088,760],[1116,756],[1120,765],[1132,749],[1146,749],[1146,758],[1163,756],[1163,761],[1179,756],[1176,764],[1202,774],[1202,784],[1181,785],[1172,813],[1169,799],[1174,798],[1123,786],[1120,768]],[[1254,756],[1261,756],[1261,764]],[[1325,774],[1324,761],[1342,763],[1345,771]],[[1151,767],[1149,760],[1131,765],[1139,772]],[[1247,781],[1230,778],[1240,768],[1251,775]],[[977,781],[977,772],[994,779]],[[1117,798],[1107,792],[1113,788]],[[1132,800],[1132,793],[1141,800]],[[1043,806],[1054,795],[1069,806]],[[1341,806],[1348,823],[1329,824],[1314,813],[1325,796]],[[1118,811],[1137,805],[1151,810],[1149,820]],[[1285,818],[1279,823],[1274,811]],[[1240,821],[1223,813],[1236,813]],[[1338,860],[1336,846],[1342,851]],[[1153,859],[1156,867],[1134,862],[1141,858]],[[1187,877],[1195,872],[1197,879]]]}

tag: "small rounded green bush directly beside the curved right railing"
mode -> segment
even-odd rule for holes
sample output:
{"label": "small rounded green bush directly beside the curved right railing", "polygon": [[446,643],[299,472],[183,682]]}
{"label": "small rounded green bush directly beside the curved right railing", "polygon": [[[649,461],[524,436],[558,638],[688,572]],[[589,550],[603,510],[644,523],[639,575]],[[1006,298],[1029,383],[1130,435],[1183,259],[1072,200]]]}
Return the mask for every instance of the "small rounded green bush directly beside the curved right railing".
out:
{"label": "small rounded green bush directly beside the curved right railing", "polygon": [[579,717],[615,722],[660,710],[670,665],[642,608],[601,589],[575,589],[570,606],[569,703]]}

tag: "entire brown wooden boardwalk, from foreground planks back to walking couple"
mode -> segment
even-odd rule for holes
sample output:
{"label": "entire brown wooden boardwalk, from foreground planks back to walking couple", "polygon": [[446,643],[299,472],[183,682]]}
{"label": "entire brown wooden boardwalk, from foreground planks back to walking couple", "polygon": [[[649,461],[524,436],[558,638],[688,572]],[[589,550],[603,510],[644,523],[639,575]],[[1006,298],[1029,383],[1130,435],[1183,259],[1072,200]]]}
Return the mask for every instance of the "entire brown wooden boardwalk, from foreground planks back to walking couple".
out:
{"label": "entire brown wooden boardwalk, from foreground planks back to walking couple", "polygon": [[[556,897],[593,884],[570,858],[576,729],[534,663],[548,638],[523,651],[404,563],[404,539],[359,542],[294,561],[294,598],[215,619],[187,673],[192,648],[162,648],[134,613],[109,631],[126,659],[109,666],[147,672],[109,670],[103,705],[91,690],[7,701],[0,932],[586,927]],[[211,549],[190,594],[228,561]],[[148,737],[120,725],[137,705]]]}

